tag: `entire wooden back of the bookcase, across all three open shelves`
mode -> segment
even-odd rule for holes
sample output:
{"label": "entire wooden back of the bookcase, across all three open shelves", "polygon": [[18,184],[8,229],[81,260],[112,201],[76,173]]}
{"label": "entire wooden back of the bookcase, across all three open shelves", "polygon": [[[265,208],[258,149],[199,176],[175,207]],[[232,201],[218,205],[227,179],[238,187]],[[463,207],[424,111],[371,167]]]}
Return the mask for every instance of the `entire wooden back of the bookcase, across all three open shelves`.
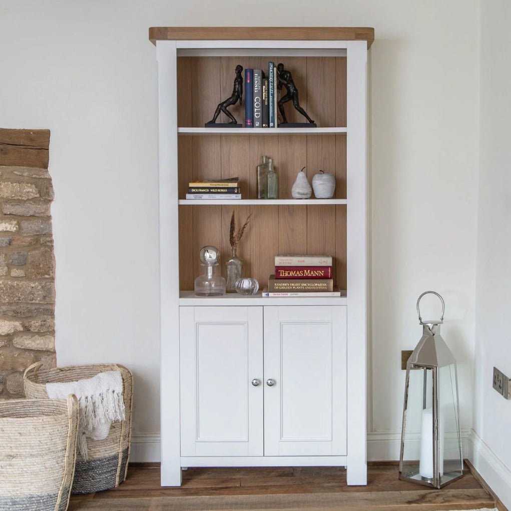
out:
{"label": "entire wooden back of the bookcase, across all three open shelves", "polygon": [[[346,125],[346,59],[343,57],[179,57],[178,124],[203,127],[216,105],[232,90],[237,64],[265,69],[268,61],[284,62],[293,74],[303,106],[320,127]],[[238,122],[244,121],[244,106],[231,107]],[[286,105],[290,122],[300,115]],[[218,122],[226,122],[219,118]],[[336,176],[336,198],[346,198],[346,135],[180,135],[178,140],[179,198],[188,182],[205,177],[239,176],[242,196],[257,198],[256,166],[263,154],[274,158],[279,178],[279,197],[291,198],[296,174],[307,167],[309,181],[320,169]],[[245,275],[267,285],[277,253],[333,255],[334,278],[346,289],[346,206],[344,205],[254,205],[179,206],[180,289],[193,289],[194,278],[203,269],[199,250],[217,246],[222,254],[217,268],[225,276],[224,262],[230,254],[229,222],[236,211],[242,224],[252,214],[240,242],[239,256]]]}

